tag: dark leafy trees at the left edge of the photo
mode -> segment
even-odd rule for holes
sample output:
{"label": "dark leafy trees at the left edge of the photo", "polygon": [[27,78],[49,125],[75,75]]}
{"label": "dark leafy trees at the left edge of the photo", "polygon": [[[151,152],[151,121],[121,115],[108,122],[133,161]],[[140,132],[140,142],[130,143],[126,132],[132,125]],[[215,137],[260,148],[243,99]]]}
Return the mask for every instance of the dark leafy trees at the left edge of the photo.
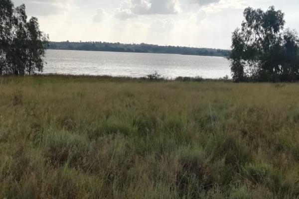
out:
{"label": "dark leafy trees at the left edge of the photo", "polygon": [[24,4],[0,0],[0,75],[41,72],[47,40],[37,18],[27,20]]}

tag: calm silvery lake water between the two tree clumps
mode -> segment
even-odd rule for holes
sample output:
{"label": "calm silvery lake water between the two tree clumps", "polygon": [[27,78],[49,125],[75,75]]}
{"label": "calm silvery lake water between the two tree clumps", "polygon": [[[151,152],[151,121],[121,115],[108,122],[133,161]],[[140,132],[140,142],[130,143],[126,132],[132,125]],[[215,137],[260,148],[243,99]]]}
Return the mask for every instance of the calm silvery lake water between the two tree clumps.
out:
{"label": "calm silvery lake water between the two tree clumps", "polygon": [[168,78],[230,76],[229,61],[222,57],[47,50],[45,61],[44,74],[144,77],[157,71]]}

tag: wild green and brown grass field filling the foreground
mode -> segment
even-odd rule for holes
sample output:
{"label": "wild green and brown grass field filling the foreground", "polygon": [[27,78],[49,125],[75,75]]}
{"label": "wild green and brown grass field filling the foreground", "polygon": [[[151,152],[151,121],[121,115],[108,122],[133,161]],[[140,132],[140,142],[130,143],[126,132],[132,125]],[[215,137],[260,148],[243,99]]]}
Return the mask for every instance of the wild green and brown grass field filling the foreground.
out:
{"label": "wild green and brown grass field filling the foreground", "polygon": [[299,198],[299,84],[0,78],[0,199],[224,198]]}

